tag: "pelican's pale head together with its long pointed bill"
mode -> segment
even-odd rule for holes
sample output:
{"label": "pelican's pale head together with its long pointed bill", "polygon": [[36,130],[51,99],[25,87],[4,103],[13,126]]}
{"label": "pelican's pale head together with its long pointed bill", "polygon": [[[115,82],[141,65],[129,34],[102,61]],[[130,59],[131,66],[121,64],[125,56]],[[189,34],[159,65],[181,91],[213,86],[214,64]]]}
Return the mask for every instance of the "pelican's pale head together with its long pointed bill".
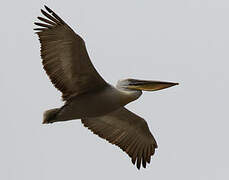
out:
{"label": "pelican's pale head together with its long pointed bill", "polygon": [[138,80],[138,79],[124,79],[119,80],[117,83],[117,88],[124,90],[135,90],[135,91],[157,91],[172,86],[178,85],[178,83],[173,82],[163,82],[163,81],[149,81],[149,80]]}

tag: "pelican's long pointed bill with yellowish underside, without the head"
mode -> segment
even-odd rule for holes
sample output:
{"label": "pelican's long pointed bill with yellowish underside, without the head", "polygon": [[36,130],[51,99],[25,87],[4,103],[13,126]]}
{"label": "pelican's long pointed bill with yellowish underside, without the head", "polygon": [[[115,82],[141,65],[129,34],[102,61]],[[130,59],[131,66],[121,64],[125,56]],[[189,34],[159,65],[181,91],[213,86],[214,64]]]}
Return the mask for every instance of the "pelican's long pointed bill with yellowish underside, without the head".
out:
{"label": "pelican's long pointed bill with yellowish underside, without the head", "polygon": [[162,81],[147,81],[147,80],[137,80],[128,79],[128,89],[143,90],[143,91],[157,91],[165,88],[169,88],[179,83],[173,82],[162,82]]}

